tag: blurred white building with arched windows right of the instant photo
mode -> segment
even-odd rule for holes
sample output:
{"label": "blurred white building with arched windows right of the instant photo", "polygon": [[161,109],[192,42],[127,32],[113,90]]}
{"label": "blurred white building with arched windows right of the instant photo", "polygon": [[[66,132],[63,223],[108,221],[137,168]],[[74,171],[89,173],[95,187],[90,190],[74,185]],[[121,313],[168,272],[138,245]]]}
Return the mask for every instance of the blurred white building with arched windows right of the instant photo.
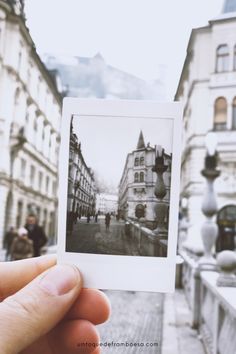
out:
{"label": "blurred white building with arched windows right of the instant photo", "polygon": [[220,233],[229,225],[231,232],[236,231],[235,33],[236,1],[228,0],[218,18],[192,31],[175,96],[184,103],[181,196],[188,200],[189,238],[199,247],[202,247],[200,228],[204,217],[201,203],[205,189],[201,169],[206,155],[205,136],[209,131],[217,135],[221,170],[215,182],[219,208],[217,222],[221,212],[225,213],[225,228],[219,224]]}

